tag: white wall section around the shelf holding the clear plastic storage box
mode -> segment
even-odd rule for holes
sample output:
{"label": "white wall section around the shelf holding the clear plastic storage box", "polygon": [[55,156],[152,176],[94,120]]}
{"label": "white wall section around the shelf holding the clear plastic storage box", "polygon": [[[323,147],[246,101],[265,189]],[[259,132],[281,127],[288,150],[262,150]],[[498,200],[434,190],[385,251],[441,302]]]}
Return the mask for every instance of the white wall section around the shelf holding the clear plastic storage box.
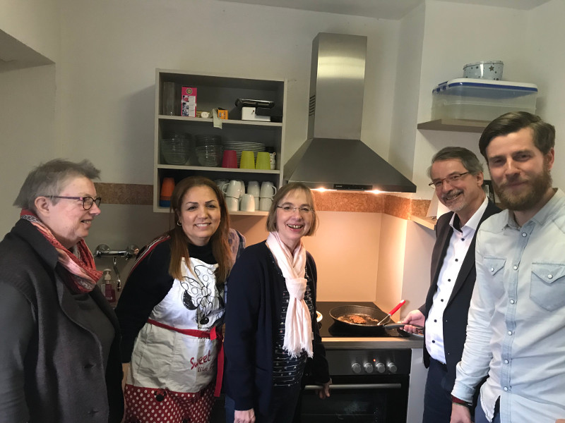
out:
{"label": "white wall section around the shelf holding the clear plastic storage box", "polygon": [[[439,82],[461,78],[466,63],[501,60],[505,80],[536,82],[530,79],[530,63],[525,60],[528,13],[533,12],[427,0],[417,122],[431,118],[432,89]],[[412,179],[418,187],[417,196],[432,196],[426,170],[434,153],[447,145],[460,145],[479,154],[479,136],[417,131]]]}

